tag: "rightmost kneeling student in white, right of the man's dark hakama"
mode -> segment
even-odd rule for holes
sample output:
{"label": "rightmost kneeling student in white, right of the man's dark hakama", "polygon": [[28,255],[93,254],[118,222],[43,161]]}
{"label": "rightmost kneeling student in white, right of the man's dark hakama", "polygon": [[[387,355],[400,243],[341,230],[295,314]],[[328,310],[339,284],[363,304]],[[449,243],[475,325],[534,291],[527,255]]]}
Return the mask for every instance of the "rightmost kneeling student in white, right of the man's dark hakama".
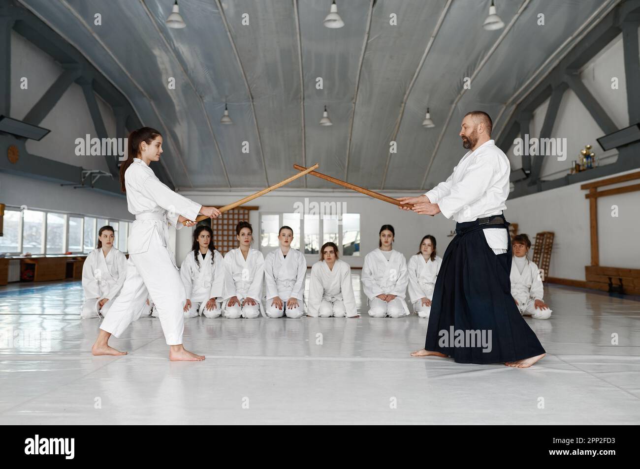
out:
{"label": "rightmost kneeling student in white, right of the man's dark hakama", "polygon": [[511,243],[513,259],[511,260],[511,296],[518,305],[522,316],[534,319],[548,319],[551,309],[542,301],[544,287],[538,272],[538,266],[529,261],[527,252],[531,248],[531,240],[526,234],[516,234]]}

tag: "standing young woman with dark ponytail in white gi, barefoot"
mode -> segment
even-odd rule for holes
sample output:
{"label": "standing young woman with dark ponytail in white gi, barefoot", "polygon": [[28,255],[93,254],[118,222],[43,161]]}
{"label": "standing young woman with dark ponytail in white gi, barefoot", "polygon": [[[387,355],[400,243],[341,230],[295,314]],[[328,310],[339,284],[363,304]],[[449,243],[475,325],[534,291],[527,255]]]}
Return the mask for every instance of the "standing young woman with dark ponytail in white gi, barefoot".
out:
{"label": "standing young woman with dark ponytail in white gi, barefoot", "polygon": [[[168,223],[179,229],[183,221],[194,220],[200,213],[215,218],[220,211],[180,196],[161,183],[149,164],[160,159],[162,143],[162,135],[153,128],[143,127],[129,134],[129,156],[120,165],[120,185],[127,194],[129,212],[136,215],[136,220],[127,242],[129,260],[124,285],[100,325],[93,355],[126,354],[111,348],[109,337],[120,337],[150,295],[169,346],[169,359],[205,358],[182,346],[186,294],[169,247]],[[188,226],[194,224],[189,222]]]}

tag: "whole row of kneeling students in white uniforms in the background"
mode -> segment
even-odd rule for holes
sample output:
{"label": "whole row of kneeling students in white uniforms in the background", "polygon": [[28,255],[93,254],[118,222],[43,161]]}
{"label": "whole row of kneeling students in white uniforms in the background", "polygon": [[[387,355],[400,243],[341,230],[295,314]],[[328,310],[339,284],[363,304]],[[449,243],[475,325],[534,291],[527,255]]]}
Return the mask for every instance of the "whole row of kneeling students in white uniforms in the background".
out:
{"label": "whole row of kneeling students in white uniforms in the background", "polygon": [[[248,222],[236,226],[239,247],[222,256],[212,243],[209,226],[197,226],[193,245],[180,265],[186,302],[184,316],[193,318],[357,318],[351,268],[338,259],[335,243],[324,243],[321,260],[311,268],[305,304],[305,255],[291,247],[293,230],[283,226],[278,231],[279,247],[262,256],[251,247],[253,229]],[[400,318],[410,314],[406,297],[420,318],[429,318],[431,300],[442,258],[436,255],[436,239],[427,234],[420,240],[419,251],[409,262],[393,249],[395,230],[391,225],[380,228],[378,249],[364,258],[362,289],[369,315],[376,318]],[[124,283],[127,261],[113,247],[114,231],[101,227],[97,249],[84,262],[83,318],[106,315],[110,302]],[[531,242],[526,234],[513,239],[511,295],[521,314],[534,319],[548,319],[551,310],[543,302],[543,284],[538,266],[527,258]],[[262,295],[263,289],[266,295]],[[264,304],[263,304],[264,300]],[[136,319],[154,315],[152,298],[136,312]]]}

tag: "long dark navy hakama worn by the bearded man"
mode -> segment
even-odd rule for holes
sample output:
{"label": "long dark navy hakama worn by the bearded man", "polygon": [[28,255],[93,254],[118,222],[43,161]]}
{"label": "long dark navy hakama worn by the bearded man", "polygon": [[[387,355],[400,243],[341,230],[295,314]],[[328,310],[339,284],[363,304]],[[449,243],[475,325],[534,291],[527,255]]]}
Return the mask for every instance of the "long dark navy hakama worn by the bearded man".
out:
{"label": "long dark navy hakama worn by the bearded man", "polygon": [[426,350],[475,364],[545,353],[511,296],[511,237],[504,254],[495,254],[484,237],[484,228],[499,227],[508,230],[503,215],[456,224],[433,291]]}

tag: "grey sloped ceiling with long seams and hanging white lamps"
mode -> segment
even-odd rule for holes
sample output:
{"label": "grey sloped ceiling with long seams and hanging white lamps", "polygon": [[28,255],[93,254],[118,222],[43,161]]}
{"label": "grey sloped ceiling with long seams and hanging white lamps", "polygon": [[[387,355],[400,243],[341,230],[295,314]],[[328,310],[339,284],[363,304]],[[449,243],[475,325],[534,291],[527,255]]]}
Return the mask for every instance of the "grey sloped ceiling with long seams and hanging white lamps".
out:
{"label": "grey sloped ceiling with long seams and hanging white lamps", "polygon": [[[465,151],[465,112],[503,116],[500,130],[516,91],[618,3],[495,0],[506,26],[486,31],[490,0],[342,0],[340,29],[323,26],[329,0],[179,0],[184,29],[164,24],[173,0],[19,1],[164,134],[176,187],[264,188],[317,162],[373,190],[447,178]],[[225,102],[233,125],[220,123]],[[324,105],[331,127],[319,125]],[[422,127],[427,107],[434,128]],[[305,185],[334,187],[310,176],[289,187]]]}

